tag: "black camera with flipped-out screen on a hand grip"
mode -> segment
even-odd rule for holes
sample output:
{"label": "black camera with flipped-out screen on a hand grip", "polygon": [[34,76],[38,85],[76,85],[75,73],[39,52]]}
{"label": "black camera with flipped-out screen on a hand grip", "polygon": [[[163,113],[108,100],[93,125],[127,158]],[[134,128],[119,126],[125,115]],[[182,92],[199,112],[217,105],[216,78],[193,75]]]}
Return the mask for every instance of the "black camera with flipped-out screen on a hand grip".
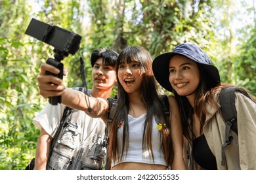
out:
{"label": "black camera with flipped-out screen on a hand grip", "polygon": [[[54,76],[62,79],[63,63],[60,61],[68,56],[68,54],[74,55],[77,52],[81,36],[58,26],[45,24],[34,18],[32,18],[25,33],[54,47],[54,59],[47,59],[47,63],[60,69],[60,73]],[[53,75],[52,73],[47,74]],[[52,105],[61,103],[61,96],[49,97],[49,103]]]}

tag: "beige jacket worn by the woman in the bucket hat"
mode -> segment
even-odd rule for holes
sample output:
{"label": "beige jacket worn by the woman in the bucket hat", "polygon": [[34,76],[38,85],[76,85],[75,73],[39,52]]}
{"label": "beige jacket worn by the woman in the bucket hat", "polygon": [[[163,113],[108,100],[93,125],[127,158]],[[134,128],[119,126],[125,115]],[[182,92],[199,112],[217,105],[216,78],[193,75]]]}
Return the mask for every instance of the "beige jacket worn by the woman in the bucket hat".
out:
{"label": "beige jacket worn by the woman in the bucket hat", "polygon": [[[219,94],[216,96],[219,101]],[[238,118],[238,135],[230,130],[234,137],[232,142],[224,148],[226,165],[221,165],[221,147],[225,141],[225,124],[221,114],[211,104],[207,103],[209,115],[206,116],[203,133],[216,157],[217,169],[256,170],[256,104],[240,92],[236,92],[235,105]],[[221,107],[221,106],[219,106]],[[191,146],[188,148],[191,154]],[[189,156],[188,169],[198,169],[192,156]],[[200,168],[199,168],[200,169]]]}

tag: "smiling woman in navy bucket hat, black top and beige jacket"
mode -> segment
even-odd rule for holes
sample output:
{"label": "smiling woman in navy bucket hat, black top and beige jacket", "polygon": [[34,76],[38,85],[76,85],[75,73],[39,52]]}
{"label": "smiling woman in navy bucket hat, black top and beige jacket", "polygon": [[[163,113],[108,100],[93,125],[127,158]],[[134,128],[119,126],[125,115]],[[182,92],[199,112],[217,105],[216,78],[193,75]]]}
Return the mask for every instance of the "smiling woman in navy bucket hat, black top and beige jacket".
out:
{"label": "smiling woman in navy bucket hat, black top and beige jacket", "polygon": [[255,97],[236,92],[239,132],[230,131],[233,139],[222,148],[226,125],[219,92],[231,85],[221,84],[207,54],[196,44],[183,43],[156,57],[152,67],[156,80],[175,94],[179,104],[188,169],[256,169]]}

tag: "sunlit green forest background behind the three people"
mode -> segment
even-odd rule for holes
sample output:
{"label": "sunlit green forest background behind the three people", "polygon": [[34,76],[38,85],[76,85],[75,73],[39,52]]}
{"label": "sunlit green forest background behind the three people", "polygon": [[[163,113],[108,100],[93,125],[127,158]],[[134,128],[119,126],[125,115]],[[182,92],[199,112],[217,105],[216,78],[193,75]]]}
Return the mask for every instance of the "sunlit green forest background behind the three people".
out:
{"label": "sunlit green forest background behind the three people", "polygon": [[83,56],[91,88],[89,58],[96,48],[120,52],[139,45],[155,58],[195,42],[218,67],[223,83],[256,95],[255,16],[254,0],[1,0],[0,169],[25,169],[35,156],[39,129],[32,119],[48,102],[39,95],[36,78],[41,63],[53,58],[53,47],[24,34],[32,18],[83,37],[78,52],[62,61],[68,87],[82,86]]}

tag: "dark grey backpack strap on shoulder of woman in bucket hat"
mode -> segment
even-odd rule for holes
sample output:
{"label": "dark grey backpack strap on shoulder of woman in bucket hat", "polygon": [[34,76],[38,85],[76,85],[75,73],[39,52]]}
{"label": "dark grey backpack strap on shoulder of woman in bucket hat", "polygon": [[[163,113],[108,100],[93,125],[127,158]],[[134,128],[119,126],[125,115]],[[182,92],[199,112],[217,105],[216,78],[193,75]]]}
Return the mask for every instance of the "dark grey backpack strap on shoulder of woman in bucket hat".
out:
{"label": "dark grey backpack strap on shoulder of woman in bucket hat", "polygon": [[236,97],[235,92],[237,90],[238,91],[242,90],[242,93],[246,97],[249,97],[249,94],[244,90],[244,88],[240,86],[229,86],[229,87],[222,88],[219,94],[221,114],[223,115],[223,119],[226,124],[226,130],[225,130],[226,140],[223,143],[221,148],[221,154],[222,154],[221,165],[223,166],[226,163],[224,147],[229,145],[233,139],[232,136],[228,136],[230,129],[232,129],[234,132],[236,132],[236,135],[238,135],[237,111],[235,106],[235,97]]}

